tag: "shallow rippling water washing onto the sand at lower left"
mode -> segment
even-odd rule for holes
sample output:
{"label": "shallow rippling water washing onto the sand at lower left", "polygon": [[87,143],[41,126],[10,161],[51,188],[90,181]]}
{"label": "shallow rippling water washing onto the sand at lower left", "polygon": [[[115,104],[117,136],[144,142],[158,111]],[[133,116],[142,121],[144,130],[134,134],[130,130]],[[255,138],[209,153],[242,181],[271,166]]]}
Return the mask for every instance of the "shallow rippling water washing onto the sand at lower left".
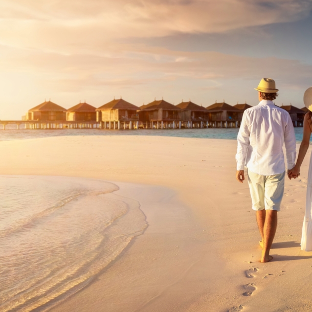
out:
{"label": "shallow rippling water washing onto the sand at lower left", "polygon": [[0,175],[0,311],[44,311],[90,283],[147,227],[113,183]]}

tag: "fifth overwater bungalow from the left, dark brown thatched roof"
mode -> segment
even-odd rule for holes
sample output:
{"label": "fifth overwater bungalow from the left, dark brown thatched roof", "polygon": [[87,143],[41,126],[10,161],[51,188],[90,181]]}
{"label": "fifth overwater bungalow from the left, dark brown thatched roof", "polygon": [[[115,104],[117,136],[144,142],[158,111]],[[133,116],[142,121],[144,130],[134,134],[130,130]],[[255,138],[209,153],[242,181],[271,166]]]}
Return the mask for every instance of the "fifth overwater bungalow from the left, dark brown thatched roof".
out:
{"label": "fifth overwater bungalow from the left, dark brown thatched roof", "polygon": [[191,101],[176,105],[181,108],[181,122],[184,128],[208,128],[208,110]]}

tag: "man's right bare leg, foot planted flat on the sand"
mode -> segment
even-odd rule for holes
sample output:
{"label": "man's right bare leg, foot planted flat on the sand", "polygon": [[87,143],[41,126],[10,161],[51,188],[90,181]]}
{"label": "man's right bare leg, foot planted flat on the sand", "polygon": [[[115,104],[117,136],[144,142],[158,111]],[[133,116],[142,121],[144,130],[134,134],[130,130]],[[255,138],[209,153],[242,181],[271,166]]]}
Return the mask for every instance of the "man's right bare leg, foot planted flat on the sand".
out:
{"label": "man's right bare leg, foot planted flat on the sand", "polygon": [[269,255],[270,249],[273,243],[277,228],[277,211],[276,210],[266,210],[265,211],[265,221],[263,227],[263,249],[260,262],[269,262],[273,259]]}

